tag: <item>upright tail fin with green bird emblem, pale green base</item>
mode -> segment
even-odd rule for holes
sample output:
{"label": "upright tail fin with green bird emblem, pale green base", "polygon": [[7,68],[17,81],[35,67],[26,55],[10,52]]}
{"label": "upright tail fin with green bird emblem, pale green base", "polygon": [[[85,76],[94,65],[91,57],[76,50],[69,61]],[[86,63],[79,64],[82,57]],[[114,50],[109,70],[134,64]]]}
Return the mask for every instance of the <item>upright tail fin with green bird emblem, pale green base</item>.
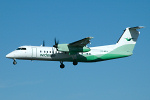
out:
{"label": "upright tail fin with green bird emblem, pale green base", "polygon": [[117,42],[117,52],[121,54],[132,55],[134,46],[140,34],[137,29],[144,28],[143,26],[129,27],[124,30],[124,33]]}

